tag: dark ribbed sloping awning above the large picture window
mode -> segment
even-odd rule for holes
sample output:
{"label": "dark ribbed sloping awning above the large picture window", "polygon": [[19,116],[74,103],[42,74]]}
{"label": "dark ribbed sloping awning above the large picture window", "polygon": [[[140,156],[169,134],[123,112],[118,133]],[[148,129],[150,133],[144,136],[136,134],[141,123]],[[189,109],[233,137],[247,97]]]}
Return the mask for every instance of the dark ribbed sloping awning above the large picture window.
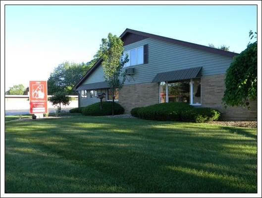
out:
{"label": "dark ribbed sloping awning above the large picture window", "polygon": [[168,71],[163,73],[158,73],[153,79],[152,83],[162,82],[162,81],[178,81],[178,80],[188,80],[198,77],[202,67],[194,67],[189,69],[181,69],[175,71]]}

